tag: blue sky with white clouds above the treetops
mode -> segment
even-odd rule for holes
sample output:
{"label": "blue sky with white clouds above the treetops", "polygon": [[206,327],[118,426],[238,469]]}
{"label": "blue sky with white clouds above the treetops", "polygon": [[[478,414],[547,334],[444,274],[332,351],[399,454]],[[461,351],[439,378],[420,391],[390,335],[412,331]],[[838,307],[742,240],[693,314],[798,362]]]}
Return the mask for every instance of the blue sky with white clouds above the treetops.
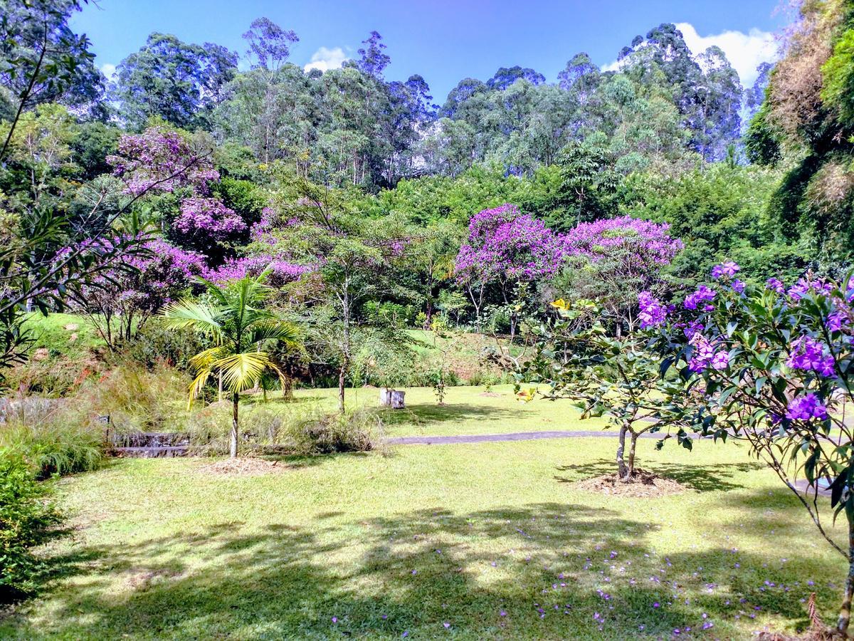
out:
{"label": "blue sky with white clouds above the treetops", "polygon": [[676,22],[693,49],[718,44],[746,84],[751,69],[773,56],[773,32],[785,16],[779,0],[95,0],[73,19],[109,72],[149,32],[186,42],[215,42],[243,52],[241,34],[266,16],[300,36],[290,62],[319,68],[355,56],[376,29],[392,63],[387,79],[421,74],[437,103],[465,77],[488,79],[499,67],[535,68],[553,82],[565,62],[587,51],[605,66],[624,44],[661,22]]}

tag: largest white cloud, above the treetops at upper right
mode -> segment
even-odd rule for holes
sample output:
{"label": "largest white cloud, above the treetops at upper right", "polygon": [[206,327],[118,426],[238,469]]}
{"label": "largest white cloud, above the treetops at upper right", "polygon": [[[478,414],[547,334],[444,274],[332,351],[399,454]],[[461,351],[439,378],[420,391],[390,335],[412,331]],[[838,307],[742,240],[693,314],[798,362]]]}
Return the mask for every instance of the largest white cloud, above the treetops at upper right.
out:
{"label": "largest white cloud, above the treetops at upper right", "polygon": [[745,87],[756,80],[756,68],[760,63],[774,62],[777,57],[777,44],[771,32],[754,28],[746,33],[725,31],[701,36],[690,22],[677,22],[676,28],[682,32],[685,44],[695,55],[714,45],[720,47]]}

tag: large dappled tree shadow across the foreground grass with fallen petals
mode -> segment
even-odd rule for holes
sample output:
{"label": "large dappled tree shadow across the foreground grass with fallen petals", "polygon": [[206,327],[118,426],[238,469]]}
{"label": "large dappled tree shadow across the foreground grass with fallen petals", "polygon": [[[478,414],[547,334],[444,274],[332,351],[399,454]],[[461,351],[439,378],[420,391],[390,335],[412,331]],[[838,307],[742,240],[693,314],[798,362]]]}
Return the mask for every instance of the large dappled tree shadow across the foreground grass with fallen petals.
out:
{"label": "large dappled tree shadow across the foreground grass with fallen petals", "polygon": [[[716,636],[734,638],[745,635],[736,616],[768,612],[803,629],[799,599],[808,591],[834,603],[833,588],[799,582],[804,567],[844,576],[810,556],[768,567],[766,557],[722,548],[656,552],[645,543],[655,541],[655,526],[584,505],[468,513],[436,505],[331,522],[337,516],[82,547],[65,559],[60,576],[73,574],[73,584],[56,584],[38,633],[660,638],[711,622]],[[21,636],[38,636],[26,625],[18,621]]]}

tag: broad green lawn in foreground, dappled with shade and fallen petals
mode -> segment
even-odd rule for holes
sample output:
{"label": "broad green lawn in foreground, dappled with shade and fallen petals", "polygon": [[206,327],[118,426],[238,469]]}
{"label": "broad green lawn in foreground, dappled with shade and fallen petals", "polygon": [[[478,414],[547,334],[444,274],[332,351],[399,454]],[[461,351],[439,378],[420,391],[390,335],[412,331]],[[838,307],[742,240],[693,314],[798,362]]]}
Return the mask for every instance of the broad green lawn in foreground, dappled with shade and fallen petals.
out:
{"label": "broad green lawn in foreground, dappled with shade and fallen petals", "polygon": [[[520,425],[512,401],[489,403],[507,415],[424,429]],[[529,426],[559,418],[527,407]],[[803,628],[810,591],[832,620],[845,563],[744,448],[642,441],[676,496],[568,482],[610,471],[615,445],[410,445],[262,476],[114,462],[61,482],[73,533],[46,551],[56,578],[0,638],[750,638]]]}

